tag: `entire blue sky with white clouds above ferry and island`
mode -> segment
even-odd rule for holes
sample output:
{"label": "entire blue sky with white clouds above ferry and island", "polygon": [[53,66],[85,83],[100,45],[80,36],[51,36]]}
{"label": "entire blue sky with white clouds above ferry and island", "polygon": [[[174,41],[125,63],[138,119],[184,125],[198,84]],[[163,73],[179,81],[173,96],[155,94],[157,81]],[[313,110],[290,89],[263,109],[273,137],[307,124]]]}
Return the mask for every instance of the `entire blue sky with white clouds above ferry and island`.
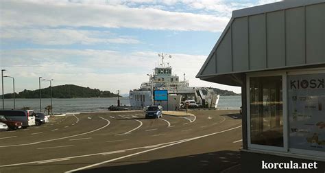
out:
{"label": "entire blue sky with white clouds above ferry and island", "polygon": [[[0,1],[0,67],[16,92],[76,84],[122,94],[138,89],[158,65],[193,87],[231,87],[195,78],[232,10],[279,0]],[[12,79],[4,78],[4,93]],[[49,82],[41,82],[42,88]]]}

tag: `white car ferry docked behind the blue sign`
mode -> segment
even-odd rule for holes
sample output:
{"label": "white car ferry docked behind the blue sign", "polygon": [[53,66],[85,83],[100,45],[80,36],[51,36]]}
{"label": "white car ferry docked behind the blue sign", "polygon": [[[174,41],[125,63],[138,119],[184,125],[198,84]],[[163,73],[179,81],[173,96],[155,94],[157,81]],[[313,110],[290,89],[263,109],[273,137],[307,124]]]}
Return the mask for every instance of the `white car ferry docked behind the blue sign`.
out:
{"label": "white car ferry docked behind the blue sign", "polygon": [[[163,110],[175,111],[185,108],[186,102],[194,100],[197,108],[217,108],[219,95],[208,87],[190,87],[189,81],[185,78],[180,80],[179,76],[173,74],[169,63],[164,62],[167,54],[158,54],[160,63],[154,68],[149,76],[148,82],[143,82],[140,89],[130,90],[130,104],[132,107],[144,108],[150,105],[163,106]],[[157,90],[167,91],[167,101],[154,99],[154,92]],[[193,102],[193,101],[192,101]],[[192,106],[193,107],[193,106]]]}

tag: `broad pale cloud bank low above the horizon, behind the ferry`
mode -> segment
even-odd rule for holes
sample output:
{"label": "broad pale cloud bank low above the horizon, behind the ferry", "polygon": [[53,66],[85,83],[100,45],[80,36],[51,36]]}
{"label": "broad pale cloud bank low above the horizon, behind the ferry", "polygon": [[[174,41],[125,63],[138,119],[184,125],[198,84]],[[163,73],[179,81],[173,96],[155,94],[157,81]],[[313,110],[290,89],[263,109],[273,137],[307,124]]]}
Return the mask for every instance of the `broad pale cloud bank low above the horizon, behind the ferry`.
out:
{"label": "broad pale cloud bank low above the horizon, behind the ferry", "polygon": [[[3,58],[5,75],[14,76],[17,91],[37,89],[38,77],[53,78],[54,85],[77,84],[101,90],[128,93],[130,89],[140,87],[146,82],[147,73],[152,73],[155,62],[158,62],[157,52],[133,52],[125,54],[117,51],[99,50],[69,50],[69,49],[21,49],[0,51]],[[229,87],[221,84],[204,82],[195,78],[206,56],[189,54],[171,54],[167,58],[171,62],[173,73],[186,73],[186,80],[191,86],[217,87],[240,93],[239,87]],[[156,63],[158,64],[158,63]],[[114,69],[115,70],[111,70]],[[118,71],[120,69],[121,71]],[[10,81],[7,81],[9,84]],[[11,92],[10,89],[5,89]]]}

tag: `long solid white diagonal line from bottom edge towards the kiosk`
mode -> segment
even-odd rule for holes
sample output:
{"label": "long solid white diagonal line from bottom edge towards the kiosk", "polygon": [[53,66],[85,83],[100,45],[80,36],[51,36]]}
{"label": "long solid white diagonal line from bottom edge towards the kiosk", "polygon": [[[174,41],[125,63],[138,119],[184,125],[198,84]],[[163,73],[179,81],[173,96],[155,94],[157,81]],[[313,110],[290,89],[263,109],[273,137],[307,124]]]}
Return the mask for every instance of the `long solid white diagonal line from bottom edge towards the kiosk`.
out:
{"label": "long solid white diagonal line from bottom edge towards the kiosk", "polygon": [[[222,130],[222,131],[219,131],[219,132],[213,132],[213,133],[210,133],[208,135],[203,135],[203,136],[200,136],[200,137],[193,137],[193,138],[190,138],[190,139],[184,139],[183,141],[178,141],[178,142],[175,142],[175,143],[171,143],[169,145],[166,145],[166,146],[160,146],[158,148],[152,148],[152,149],[149,149],[149,150],[144,150],[144,151],[141,151],[141,152],[136,152],[136,153],[133,153],[133,154],[128,154],[126,156],[123,156],[123,157],[118,157],[118,158],[115,158],[115,159],[110,159],[108,161],[102,161],[102,162],[99,162],[99,163],[95,163],[93,165],[88,165],[88,166],[84,166],[82,168],[77,168],[75,170],[69,170],[67,172],[76,172],[76,171],[79,171],[79,170],[84,170],[84,169],[87,169],[87,168],[92,168],[92,167],[95,167],[97,165],[103,165],[104,163],[110,163],[112,161],[117,161],[117,160],[121,160],[121,159],[125,159],[125,158],[128,158],[128,157],[132,157],[132,156],[135,156],[135,155],[139,155],[139,154],[142,154],[142,153],[145,153],[145,152],[150,152],[150,151],[154,151],[154,150],[159,150],[160,148],[167,148],[169,146],[175,146],[179,143],[184,143],[186,141],[193,141],[195,139],[200,139],[200,138],[203,138],[203,137],[208,137],[208,136],[211,136],[211,135],[216,135],[216,134],[219,134],[221,132],[227,132],[227,131],[230,131],[230,130],[234,130],[236,128],[241,128],[241,126],[237,126],[237,127],[234,127],[234,128],[229,128],[227,130]],[[1,167],[1,166],[0,166]]]}

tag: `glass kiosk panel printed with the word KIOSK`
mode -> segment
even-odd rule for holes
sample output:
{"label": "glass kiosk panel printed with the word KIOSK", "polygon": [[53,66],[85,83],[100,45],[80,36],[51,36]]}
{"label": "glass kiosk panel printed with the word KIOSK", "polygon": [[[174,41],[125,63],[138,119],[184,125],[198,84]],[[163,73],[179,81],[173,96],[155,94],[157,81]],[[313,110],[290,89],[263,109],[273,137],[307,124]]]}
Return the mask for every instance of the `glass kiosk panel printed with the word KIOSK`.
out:
{"label": "glass kiosk panel printed with the word KIOSK", "polygon": [[325,151],[325,73],[288,76],[289,147]]}

